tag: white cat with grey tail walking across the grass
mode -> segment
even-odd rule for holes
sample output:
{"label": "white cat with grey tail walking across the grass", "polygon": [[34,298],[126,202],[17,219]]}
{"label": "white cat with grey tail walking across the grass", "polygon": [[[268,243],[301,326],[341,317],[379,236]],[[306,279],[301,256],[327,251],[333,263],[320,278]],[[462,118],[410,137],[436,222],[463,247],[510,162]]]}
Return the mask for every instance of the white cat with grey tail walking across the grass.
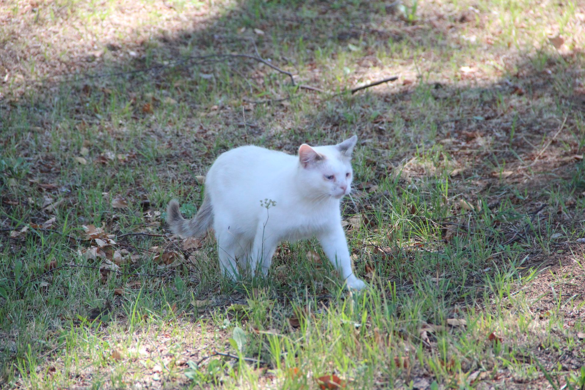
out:
{"label": "white cat with grey tail walking across the grass", "polygon": [[353,274],[340,201],[352,184],[351,156],[357,137],[329,146],[302,144],[298,157],[257,146],[226,151],[205,177],[205,198],[191,220],[177,201],[167,222],[182,237],[201,237],[213,223],[223,272],[240,268],[267,274],[280,241],[316,236],[348,288],[365,286]]}

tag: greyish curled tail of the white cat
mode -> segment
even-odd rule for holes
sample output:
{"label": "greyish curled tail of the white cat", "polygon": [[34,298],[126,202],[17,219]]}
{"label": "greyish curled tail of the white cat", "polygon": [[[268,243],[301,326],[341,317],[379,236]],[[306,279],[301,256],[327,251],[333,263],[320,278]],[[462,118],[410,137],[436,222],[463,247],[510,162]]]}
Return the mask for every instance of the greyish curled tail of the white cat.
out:
{"label": "greyish curled tail of the white cat", "polygon": [[181,237],[203,237],[214,220],[213,208],[209,196],[205,196],[197,215],[191,219],[184,219],[179,211],[179,202],[172,200],[167,206],[167,223],[171,232]]}

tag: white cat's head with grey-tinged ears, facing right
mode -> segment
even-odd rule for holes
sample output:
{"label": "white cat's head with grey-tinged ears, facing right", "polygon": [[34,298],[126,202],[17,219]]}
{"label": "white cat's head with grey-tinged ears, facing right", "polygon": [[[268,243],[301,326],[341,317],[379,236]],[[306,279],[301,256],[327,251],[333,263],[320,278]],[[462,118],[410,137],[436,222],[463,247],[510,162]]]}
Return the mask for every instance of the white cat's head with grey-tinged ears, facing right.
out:
{"label": "white cat's head with grey-tinged ears, facing right", "polygon": [[311,147],[302,144],[298,149],[300,185],[315,199],[327,196],[340,199],[352,190],[352,151],[357,136],[342,143]]}

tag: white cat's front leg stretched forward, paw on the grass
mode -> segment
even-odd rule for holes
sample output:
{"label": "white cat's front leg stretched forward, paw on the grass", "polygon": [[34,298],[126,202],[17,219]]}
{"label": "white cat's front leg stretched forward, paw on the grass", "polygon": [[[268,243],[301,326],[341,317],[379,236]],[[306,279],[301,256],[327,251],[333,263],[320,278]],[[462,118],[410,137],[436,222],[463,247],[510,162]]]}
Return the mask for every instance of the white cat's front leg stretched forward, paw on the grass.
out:
{"label": "white cat's front leg stretched forward, paw on the grass", "polygon": [[352,259],[349,257],[349,250],[347,250],[347,240],[343,227],[341,225],[331,227],[319,234],[318,239],[321,241],[321,246],[329,261],[345,279],[347,288],[360,290],[366,287],[366,284],[353,274]]}

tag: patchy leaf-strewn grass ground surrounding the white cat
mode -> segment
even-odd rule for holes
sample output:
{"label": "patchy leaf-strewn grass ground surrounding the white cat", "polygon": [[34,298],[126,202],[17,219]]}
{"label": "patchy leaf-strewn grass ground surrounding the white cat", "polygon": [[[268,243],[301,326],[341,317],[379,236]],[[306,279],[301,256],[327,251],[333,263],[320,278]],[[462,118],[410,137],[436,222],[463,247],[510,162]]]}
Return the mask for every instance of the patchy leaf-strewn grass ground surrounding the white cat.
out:
{"label": "patchy leaf-strewn grass ground surrounding the white cat", "polygon": [[[347,388],[583,390],[576,4],[0,12],[6,388],[300,389],[335,374]],[[228,53],[270,58],[297,85],[200,57]],[[233,283],[212,237],[199,247],[164,228],[171,198],[195,212],[197,176],[222,151],[353,133],[343,214],[363,294],[342,289],[313,240],[281,244],[269,278]],[[103,232],[89,239],[90,225]]]}

